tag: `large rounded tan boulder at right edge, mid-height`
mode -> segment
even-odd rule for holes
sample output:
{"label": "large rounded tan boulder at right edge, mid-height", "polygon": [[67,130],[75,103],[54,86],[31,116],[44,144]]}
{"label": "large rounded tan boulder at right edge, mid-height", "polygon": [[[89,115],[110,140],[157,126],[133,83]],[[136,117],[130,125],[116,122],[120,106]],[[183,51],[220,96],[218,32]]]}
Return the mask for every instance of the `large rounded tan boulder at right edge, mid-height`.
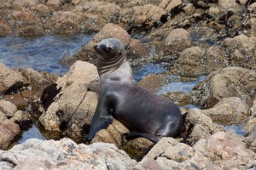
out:
{"label": "large rounded tan boulder at right edge, mid-height", "polygon": [[239,97],[250,104],[255,97],[256,72],[240,67],[227,67],[213,71],[191,92],[196,105],[212,108],[218,101]]}

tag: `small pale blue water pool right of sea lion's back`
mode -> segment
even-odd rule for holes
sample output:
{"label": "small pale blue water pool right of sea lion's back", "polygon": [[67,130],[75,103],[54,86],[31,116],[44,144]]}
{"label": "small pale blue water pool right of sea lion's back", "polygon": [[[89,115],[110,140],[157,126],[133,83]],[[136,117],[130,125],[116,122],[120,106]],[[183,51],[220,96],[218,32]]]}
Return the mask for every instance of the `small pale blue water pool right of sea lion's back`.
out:
{"label": "small pale blue water pool right of sea lion's back", "polygon": [[[174,78],[178,79],[178,77]],[[171,82],[160,88],[157,94],[164,94],[166,92],[189,92],[195,87],[196,84],[198,84],[198,82],[201,82],[204,79],[206,79],[206,76],[199,77],[195,82]]]}

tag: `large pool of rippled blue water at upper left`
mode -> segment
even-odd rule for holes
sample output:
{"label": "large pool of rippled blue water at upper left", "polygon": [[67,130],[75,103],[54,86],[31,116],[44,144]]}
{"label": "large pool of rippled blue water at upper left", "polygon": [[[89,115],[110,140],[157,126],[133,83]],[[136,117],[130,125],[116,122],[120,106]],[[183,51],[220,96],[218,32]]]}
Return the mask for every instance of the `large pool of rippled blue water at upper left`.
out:
{"label": "large pool of rippled blue water at upper left", "polygon": [[36,71],[65,74],[68,68],[59,59],[76,54],[92,36],[0,37],[0,62],[10,68],[32,68]]}

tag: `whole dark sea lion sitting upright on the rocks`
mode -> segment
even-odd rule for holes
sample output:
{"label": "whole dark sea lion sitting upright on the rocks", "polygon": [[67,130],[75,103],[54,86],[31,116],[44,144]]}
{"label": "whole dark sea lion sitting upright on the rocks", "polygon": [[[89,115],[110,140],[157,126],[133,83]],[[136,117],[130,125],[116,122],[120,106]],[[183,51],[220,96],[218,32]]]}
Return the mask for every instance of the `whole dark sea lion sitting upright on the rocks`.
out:
{"label": "whole dark sea lion sitting upright on the rocks", "polygon": [[88,139],[113,122],[113,117],[131,130],[126,139],[144,137],[158,142],[160,137],[176,137],[183,125],[181,112],[169,99],[140,87],[135,82],[125,47],[109,38],[94,47],[99,54],[97,71],[102,94],[96,106]]}

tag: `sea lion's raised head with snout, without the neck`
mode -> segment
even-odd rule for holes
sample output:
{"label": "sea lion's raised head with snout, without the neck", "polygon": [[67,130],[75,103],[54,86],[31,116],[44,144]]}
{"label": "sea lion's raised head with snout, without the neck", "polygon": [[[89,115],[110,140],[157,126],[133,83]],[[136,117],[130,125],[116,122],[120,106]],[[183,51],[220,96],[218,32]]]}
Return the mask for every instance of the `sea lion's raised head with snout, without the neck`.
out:
{"label": "sea lion's raised head with snout, without the neck", "polygon": [[124,44],[115,38],[103,39],[94,46],[94,49],[102,59],[119,58],[125,54]]}

